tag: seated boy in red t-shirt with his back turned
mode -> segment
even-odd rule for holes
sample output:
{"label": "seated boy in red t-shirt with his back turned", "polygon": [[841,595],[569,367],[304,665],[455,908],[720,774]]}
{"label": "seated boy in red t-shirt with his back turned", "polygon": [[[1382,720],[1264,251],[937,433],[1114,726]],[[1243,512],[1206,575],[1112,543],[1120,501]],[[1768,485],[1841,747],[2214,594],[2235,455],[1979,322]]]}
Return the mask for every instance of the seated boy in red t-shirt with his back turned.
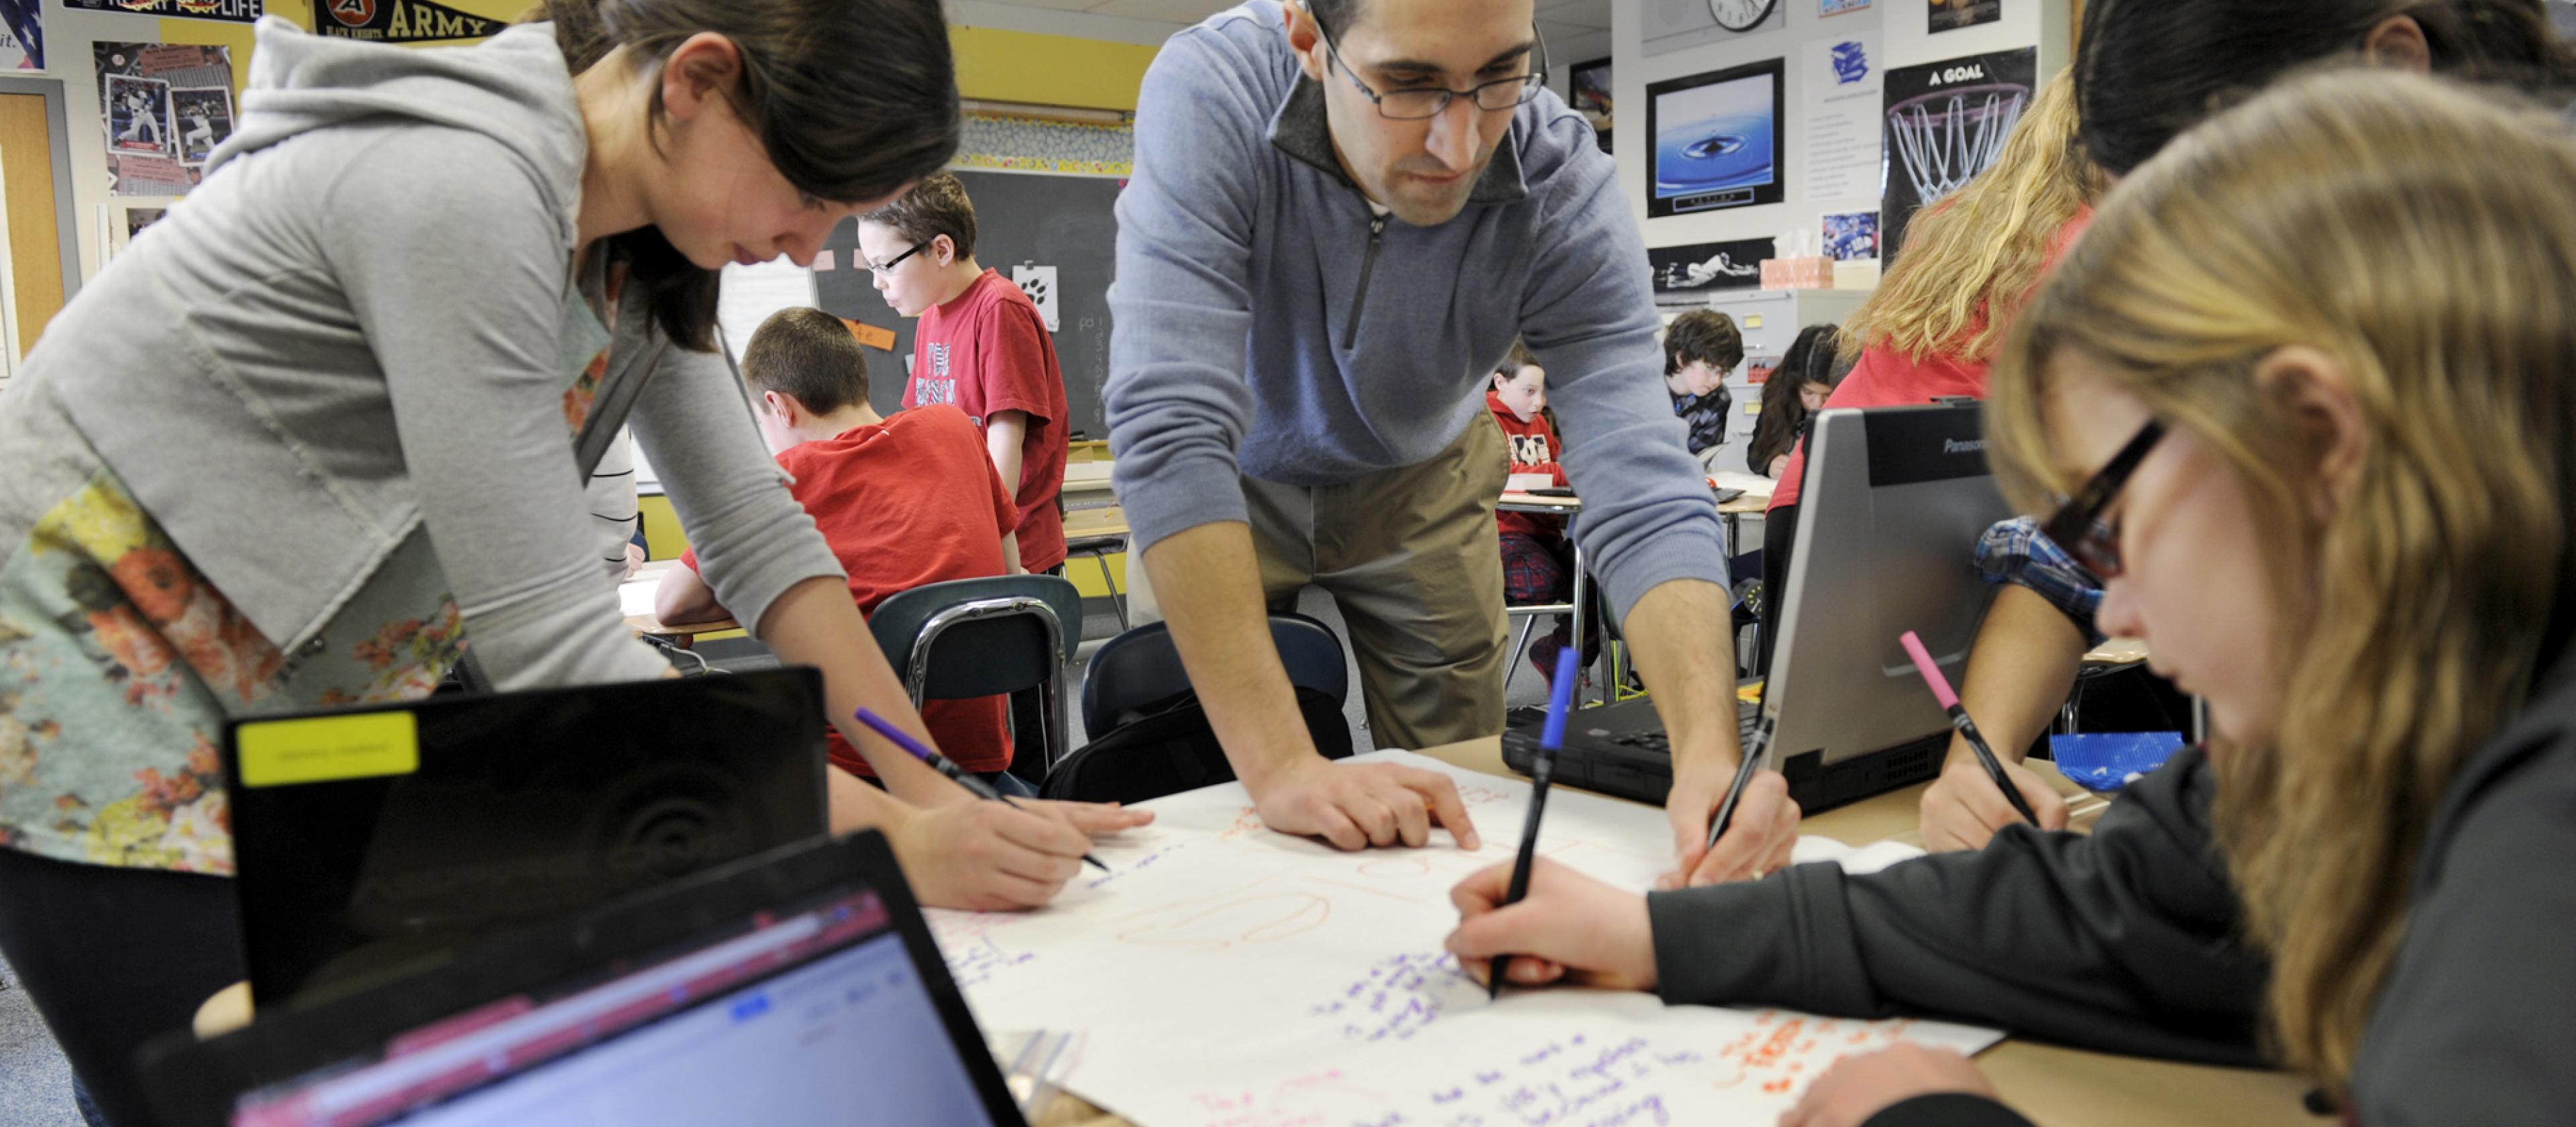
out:
{"label": "seated boy in red t-shirt with his back turned", "polygon": [[[948,579],[1010,574],[1020,509],[984,461],[984,440],[956,407],[891,419],[868,407],[868,358],[840,316],[781,309],[742,350],[742,381],[760,396],[760,435],[791,473],[788,491],[822,530],[860,615],[896,592]],[[726,618],[698,579],[698,553],[680,556],[654,592],[665,623]],[[922,723],[958,767],[1010,767],[1010,697],[927,700]],[[832,764],[871,777],[840,731]]]}

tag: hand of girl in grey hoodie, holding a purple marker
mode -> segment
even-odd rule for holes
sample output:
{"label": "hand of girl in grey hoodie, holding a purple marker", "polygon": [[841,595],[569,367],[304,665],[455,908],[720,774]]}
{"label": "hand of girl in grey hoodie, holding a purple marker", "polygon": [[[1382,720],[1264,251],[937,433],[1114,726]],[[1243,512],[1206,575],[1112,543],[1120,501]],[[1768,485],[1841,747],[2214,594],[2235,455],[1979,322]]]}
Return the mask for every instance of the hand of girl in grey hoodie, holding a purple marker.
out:
{"label": "hand of girl in grey hoodie, holding a purple marker", "polygon": [[1054,901],[1092,849],[1064,821],[1002,803],[914,808],[886,839],[925,906],[971,911]]}

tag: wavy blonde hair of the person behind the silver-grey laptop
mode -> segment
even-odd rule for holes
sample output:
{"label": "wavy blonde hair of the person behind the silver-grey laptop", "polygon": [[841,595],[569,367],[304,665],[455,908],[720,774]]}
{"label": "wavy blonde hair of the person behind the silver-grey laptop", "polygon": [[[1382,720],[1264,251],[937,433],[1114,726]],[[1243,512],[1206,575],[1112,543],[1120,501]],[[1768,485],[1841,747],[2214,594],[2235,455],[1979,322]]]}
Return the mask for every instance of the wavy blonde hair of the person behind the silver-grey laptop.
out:
{"label": "wavy blonde hair of the person behind the silver-grey laptop", "polygon": [[1906,226],[1904,255],[1834,350],[1893,347],[1984,360],[2038,286],[2066,221],[2092,201],[2094,170],[2076,144],[2076,90],[2058,72],[2012,126],[1994,167]]}

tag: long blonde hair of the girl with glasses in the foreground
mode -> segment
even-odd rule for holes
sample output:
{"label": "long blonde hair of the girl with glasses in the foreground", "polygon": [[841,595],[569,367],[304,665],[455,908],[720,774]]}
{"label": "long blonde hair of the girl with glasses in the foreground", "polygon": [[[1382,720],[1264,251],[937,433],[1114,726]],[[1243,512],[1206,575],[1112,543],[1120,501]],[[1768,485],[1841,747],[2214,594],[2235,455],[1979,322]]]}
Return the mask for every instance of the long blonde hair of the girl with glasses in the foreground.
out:
{"label": "long blonde hair of the girl with glasses in the foreground", "polygon": [[[1996,363],[1996,471],[2030,512],[2079,468],[2045,427],[2081,355],[2187,432],[2267,530],[2280,728],[2218,746],[2218,844],[2272,957],[2277,1050],[2344,1091],[2460,762],[2522,705],[2568,564],[2576,139],[2439,80],[2334,72],[2110,193]],[[2331,355],[2365,453],[2329,502],[2251,373]]]}

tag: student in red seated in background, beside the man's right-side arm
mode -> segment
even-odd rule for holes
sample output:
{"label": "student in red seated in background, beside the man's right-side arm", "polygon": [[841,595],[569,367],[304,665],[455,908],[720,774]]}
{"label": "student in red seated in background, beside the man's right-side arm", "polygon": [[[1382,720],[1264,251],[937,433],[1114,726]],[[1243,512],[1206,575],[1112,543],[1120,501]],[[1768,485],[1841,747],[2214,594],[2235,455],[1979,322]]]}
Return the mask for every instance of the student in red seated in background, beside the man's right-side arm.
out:
{"label": "student in red seated in background, beside the man's right-side arm", "polygon": [[[1512,353],[1494,368],[1494,386],[1484,394],[1484,407],[1502,425],[1502,440],[1512,458],[1510,489],[1564,486],[1566,468],[1556,461],[1564,443],[1556,440],[1556,422],[1548,414],[1548,371],[1528,347],[1512,342]],[[1502,600],[1522,607],[1533,602],[1566,602],[1574,597],[1574,540],[1566,540],[1566,517],[1535,512],[1497,512],[1494,530],[1502,533]],[[1584,628],[1584,659],[1600,646],[1600,618]],[[1574,625],[1556,623],[1556,633],[1530,643],[1530,664],[1540,677],[1556,677],[1556,651],[1574,641]]]}

